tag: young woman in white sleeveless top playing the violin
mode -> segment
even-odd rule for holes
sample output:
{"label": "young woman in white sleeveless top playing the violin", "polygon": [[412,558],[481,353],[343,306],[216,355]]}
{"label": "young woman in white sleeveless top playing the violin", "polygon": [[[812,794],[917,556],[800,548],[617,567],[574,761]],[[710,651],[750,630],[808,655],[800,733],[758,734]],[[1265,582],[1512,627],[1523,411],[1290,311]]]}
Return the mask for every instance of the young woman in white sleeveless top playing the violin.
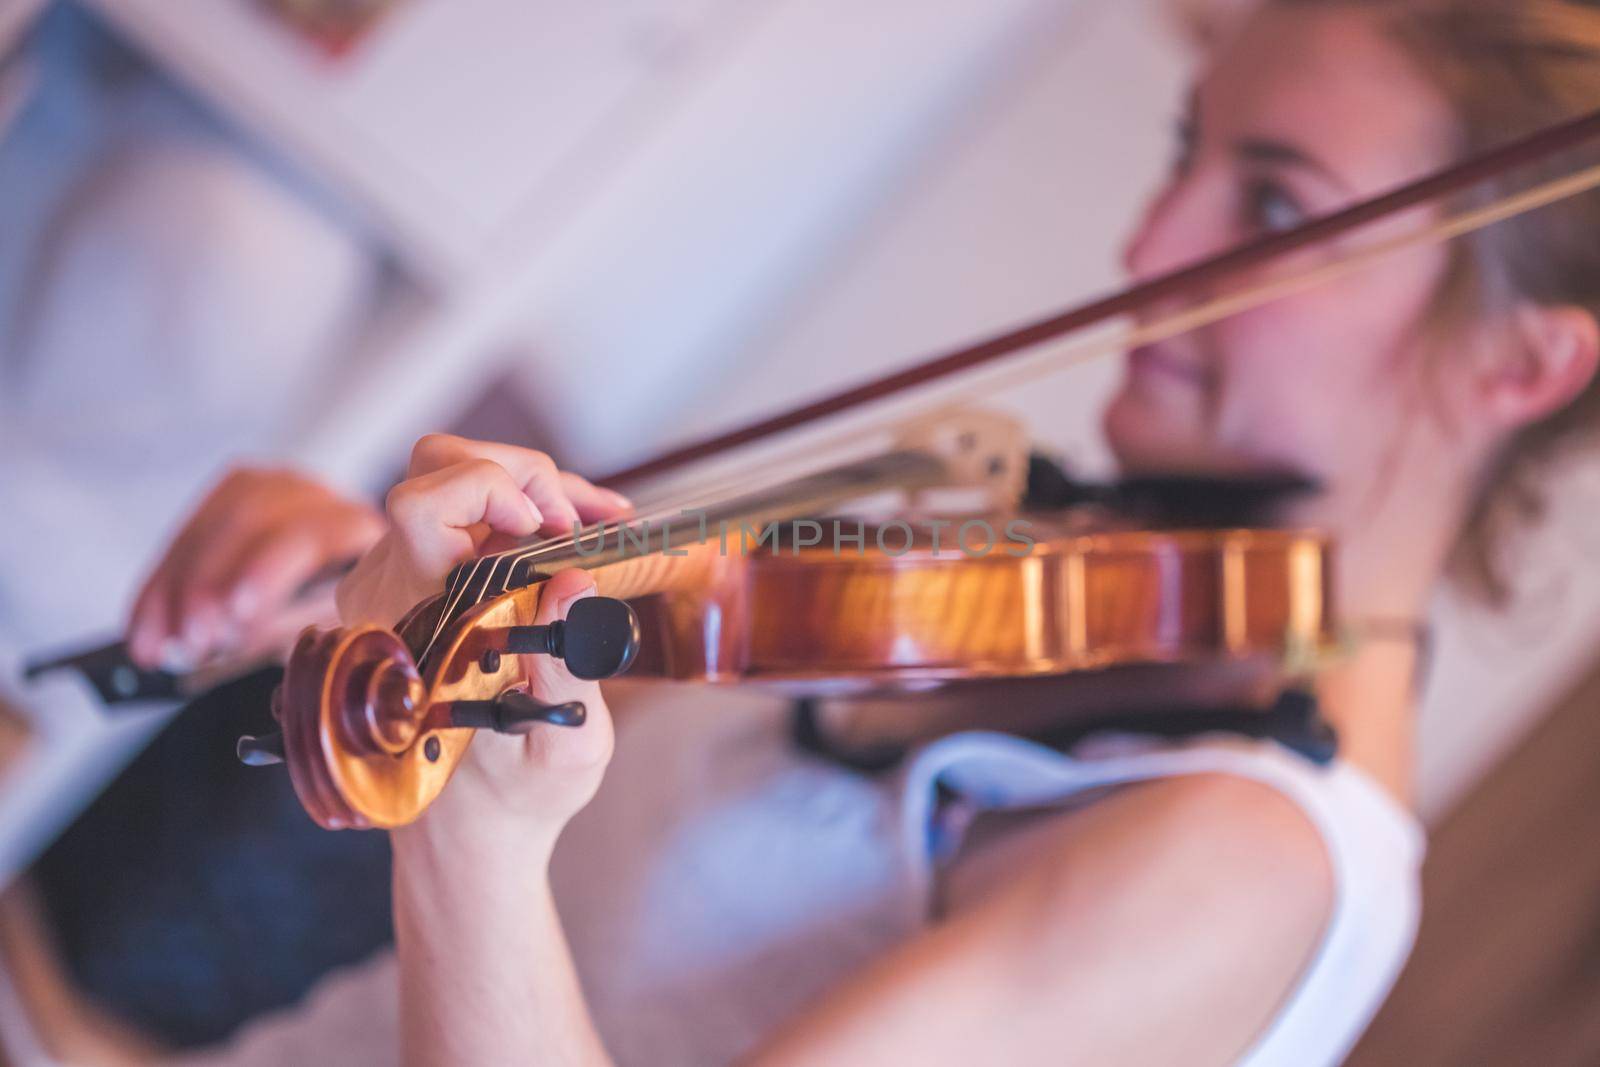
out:
{"label": "young woman in white sleeveless top playing the violin", "polygon": [[[1600,6],[1270,0],[1195,86],[1128,267],[1595,106]],[[1589,195],[1133,352],[1106,430],[1131,470],[1322,480],[1296,518],[1341,537],[1344,613],[1394,632],[1453,566],[1493,577],[1485,537],[1530,464],[1592,421],[1597,314]],[[541,454],[459,438],[424,440],[410,475],[341,589],[346,621],[394,622],[491,536],[621,507]],[[152,584],[141,648],[182,632],[150,605],[178,603],[189,569]],[[557,576],[546,614],[586,592]],[[584,701],[589,723],[480,736],[394,833],[398,981],[382,965],[315,998],[349,1043],[269,1025],[240,1054],[390,1062],[392,1027],[406,1062],[451,1067],[1333,1064],[1416,921],[1418,667],[1384,640],[1328,672],[1331,768],[1222,736],[1062,753],[973,709],[872,779],[795,750],[773,715],[630,715],[613,758],[600,691],[541,662],[536,694]]]}

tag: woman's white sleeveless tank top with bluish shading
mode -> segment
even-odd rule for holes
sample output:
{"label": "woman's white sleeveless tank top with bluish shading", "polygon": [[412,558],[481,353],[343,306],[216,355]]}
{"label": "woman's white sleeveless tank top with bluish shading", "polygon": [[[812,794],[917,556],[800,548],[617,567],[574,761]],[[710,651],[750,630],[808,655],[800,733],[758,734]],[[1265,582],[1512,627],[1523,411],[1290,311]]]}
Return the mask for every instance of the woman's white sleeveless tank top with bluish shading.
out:
{"label": "woman's white sleeveless tank top with bluish shading", "polygon": [[[926,921],[938,854],[965,805],[1069,803],[1085,790],[1226,773],[1282,790],[1320,829],[1336,902],[1323,944],[1250,1067],[1338,1064],[1389,992],[1418,921],[1422,832],[1352,766],[1318,768],[1275,742],[1091,741],[1072,755],[960,733],[893,776],[808,758],[786,709],[642,713],[618,733],[606,784],[573,821],[552,877],[606,1046],[619,1064],[709,1067]],[[392,955],[325,979],[304,1005],[246,1027],[218,1067],[398,1062]]]}

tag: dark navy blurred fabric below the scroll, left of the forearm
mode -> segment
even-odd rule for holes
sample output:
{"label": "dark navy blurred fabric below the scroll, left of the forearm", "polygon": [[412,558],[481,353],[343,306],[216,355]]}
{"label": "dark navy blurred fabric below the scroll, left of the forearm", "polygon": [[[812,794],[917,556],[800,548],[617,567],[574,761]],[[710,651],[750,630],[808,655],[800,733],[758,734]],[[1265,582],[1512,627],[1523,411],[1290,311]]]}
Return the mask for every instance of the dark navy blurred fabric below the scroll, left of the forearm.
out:
{"label": "dark navy blurred fabric below the scroll, left of the forearm", "polygon": [[326,833],[234,757],[278,672],[184,709],[34,869],[66,968],[176,1048],[229,1037],[390,944],[389,838]]}

